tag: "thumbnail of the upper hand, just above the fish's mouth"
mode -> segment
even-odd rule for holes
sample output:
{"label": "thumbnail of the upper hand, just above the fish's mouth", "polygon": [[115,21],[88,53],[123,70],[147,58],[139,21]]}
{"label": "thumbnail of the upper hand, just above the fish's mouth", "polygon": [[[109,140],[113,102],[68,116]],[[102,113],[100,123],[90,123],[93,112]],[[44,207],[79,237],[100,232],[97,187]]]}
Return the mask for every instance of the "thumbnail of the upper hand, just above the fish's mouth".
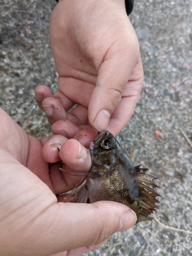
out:
{"label": "thumbnail of the upper hand, just above the fish's mouth", "polygon": [[94,125],[97,131],[103,132],[106,130],[110,120],[110,113],[107,110],[100,110],[95,118]]}

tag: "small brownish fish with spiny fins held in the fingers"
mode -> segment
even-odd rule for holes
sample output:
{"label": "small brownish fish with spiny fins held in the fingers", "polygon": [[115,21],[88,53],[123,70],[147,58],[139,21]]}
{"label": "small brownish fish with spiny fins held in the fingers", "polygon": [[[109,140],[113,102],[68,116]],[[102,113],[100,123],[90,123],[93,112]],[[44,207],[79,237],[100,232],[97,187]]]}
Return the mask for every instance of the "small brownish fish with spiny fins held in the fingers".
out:
{"label": "small brownish fish with spiny fins held in the fingers", "polygon": [[89,152],[92,157],[89,173],[67,172],[86,177],[86,182],[76,191],[71,202],[115,201],[135,211],[136,223],[153,220],[151,214],[158,208],[156,197],[160,196],[155,191],[159,186],[153,182],[157,178],[146,174],[147,168],[134,166],[130,156],[109,131],[97,134],[90,143]]}

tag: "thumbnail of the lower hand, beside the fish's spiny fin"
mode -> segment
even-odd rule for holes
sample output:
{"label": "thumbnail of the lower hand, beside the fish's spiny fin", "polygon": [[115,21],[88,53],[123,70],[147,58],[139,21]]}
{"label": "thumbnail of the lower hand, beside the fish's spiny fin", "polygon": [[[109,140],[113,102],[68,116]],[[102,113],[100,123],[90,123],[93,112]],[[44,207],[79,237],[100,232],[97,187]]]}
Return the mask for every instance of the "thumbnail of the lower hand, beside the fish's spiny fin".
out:
{"label": "thumbnail of the lower hand, beside the fish's spiny fin", "polygon": [[125,211],[120,218],[120,224],[117,231],[123,231],[126,229],[129,229],[135,225],[137,221],[137,216],[135,214],[135,211],[128,210]]}

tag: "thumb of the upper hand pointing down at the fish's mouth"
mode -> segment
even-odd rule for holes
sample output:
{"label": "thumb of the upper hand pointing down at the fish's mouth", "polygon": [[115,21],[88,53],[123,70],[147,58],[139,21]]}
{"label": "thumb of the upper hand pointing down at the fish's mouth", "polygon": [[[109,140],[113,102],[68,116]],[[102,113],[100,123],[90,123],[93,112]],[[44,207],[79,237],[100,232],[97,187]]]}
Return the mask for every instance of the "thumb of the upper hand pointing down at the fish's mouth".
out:
{"label": "thumb of the upper hand pointing down at the fish's mouth", "polygon": [[133,68],[139,61],[139,48],[133,46],[131,41],[120,38],[110,48],[99,68],[88,108],[89,121],[99,132],[106,130],[110,116],[119,104]]}

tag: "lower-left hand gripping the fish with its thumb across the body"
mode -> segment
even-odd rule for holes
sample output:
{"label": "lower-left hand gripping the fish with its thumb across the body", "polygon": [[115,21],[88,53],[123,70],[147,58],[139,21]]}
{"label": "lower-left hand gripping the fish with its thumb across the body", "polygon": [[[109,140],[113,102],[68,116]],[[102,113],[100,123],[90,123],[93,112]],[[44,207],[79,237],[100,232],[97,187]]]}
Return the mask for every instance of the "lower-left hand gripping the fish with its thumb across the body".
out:
{"label": "lower-left hand gripping the fish with its thumb across the body", "polygon": [[91,165],[77,140],[56,135],[39,141],[2,109],[0,116],[1,255],[80,255],[135,224],[123,204],[74,204],[59,196],[80,182],[59,167],[84,173]]}

